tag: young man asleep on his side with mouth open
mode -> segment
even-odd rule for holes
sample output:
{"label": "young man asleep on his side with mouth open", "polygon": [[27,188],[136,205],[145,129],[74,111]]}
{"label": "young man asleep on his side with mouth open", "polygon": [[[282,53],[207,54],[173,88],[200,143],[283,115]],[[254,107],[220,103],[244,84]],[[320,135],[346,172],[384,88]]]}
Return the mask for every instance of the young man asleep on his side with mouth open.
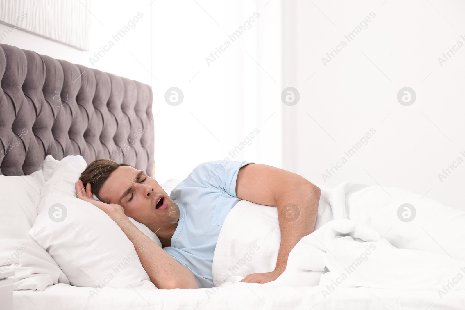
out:
{"label": "young man asleep on his side with mouth open", "polygon": [[[241,199],[278,206],[281,230],[275,270],[248,275],[241,282],[275,280],[286,269],[295,244],[312,233],[320,197],[316,185],[295,173],[246,161],[203,163],[168,195],[144,171],[97,159],[75,186],[78,198],[105,211],[135,247],[143,246],[140,262],[159,289],[213,286],[213,253],[219,231],[227,213]],[[99,200],[94,200],[93,194]],[[128,217],[155,232],[163,249]]]}

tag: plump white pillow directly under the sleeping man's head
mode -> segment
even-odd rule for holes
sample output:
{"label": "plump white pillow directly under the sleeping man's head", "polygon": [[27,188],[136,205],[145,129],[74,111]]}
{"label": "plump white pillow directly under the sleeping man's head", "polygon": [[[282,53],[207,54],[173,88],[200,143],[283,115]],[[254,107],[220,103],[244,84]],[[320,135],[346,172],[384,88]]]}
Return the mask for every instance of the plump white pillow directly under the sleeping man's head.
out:
{"label": "plump white pillow directly under the sleeping man's head", "polygon": [[[58,263],[70,284],[94,287],[89,291],[92,297],[105,286],[154,289],[137,256],[142,249],[136,251],[104,211],[75,197],[74,183],[86,166],[82,156],[66,156],[58,163],[42,187],[30,235]],[[145,225],[137,226],[161,245]]]}

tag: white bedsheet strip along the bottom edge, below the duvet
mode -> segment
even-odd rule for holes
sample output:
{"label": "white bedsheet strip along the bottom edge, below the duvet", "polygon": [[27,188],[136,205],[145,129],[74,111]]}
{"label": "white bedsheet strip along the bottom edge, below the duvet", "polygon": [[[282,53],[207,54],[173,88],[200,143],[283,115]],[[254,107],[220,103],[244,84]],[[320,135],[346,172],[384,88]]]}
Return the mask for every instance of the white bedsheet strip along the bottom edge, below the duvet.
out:
{"label": "white bedsheet strip along the bottom edge, below the duvet", "polygon": [[[44,291],[15,290],[15,310],[106,309],[253,309],[253,310],[463,310],[463,293],[452,291],[434,301],[435,291],[340,288],[324,298],[319,287],[280,287],[232,284],[214,289],[135,291],[106,287],[97,297],[90,288],[55,284]],[[208,293],[207,292],[211,292]],[[212,295],[213,294],[213,295]],[[434,302],[434,303],[433,303]],[[428,308],[429,307],[429,308]]]}

